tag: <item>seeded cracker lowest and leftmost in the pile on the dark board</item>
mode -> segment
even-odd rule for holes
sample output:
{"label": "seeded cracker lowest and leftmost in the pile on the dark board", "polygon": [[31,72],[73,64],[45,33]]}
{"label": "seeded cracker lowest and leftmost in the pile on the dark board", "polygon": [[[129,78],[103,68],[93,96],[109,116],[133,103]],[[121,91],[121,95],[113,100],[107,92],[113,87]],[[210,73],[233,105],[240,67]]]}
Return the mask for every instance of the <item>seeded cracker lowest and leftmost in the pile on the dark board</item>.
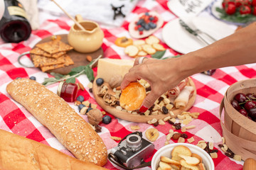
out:
{"label": "seeded cracker lowest and leftmost in the pile on the dark board", "polygon": [[33,54],[31,54],[31,59],[35,67],[43,67],[43,66],[49,66],[54,64],[63,64],[65,62],[65,57],[50,58],[50,57],[43,57],[41,55],[33,55]]}

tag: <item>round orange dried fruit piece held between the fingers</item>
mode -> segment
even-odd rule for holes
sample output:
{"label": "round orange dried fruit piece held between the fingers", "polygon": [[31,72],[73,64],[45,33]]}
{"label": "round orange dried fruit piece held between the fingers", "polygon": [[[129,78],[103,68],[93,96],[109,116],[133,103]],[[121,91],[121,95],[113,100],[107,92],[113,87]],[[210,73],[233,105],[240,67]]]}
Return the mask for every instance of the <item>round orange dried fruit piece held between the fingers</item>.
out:
{"label": "round orange dried fruit piece held between the fingers", "polygon": [[137,110],[146,97],[146,89],[138,82],[130,83],[124,90],[119,99],[120,106],[127,111]]}

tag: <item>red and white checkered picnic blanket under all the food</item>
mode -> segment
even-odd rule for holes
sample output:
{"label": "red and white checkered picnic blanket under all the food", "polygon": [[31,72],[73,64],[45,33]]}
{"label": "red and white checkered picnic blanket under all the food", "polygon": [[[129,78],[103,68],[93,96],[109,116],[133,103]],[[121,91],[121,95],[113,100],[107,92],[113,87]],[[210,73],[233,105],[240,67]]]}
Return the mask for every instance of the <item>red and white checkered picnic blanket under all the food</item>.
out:
{"label": "red and white checkered picnic blanket under all the food", "polygon": [[[156,1],[139,1],[137,6],[134,8],[132,13],[127,14],[125,21],[120,28],[102,28],[105,33],[105,38],[103,40],[102,48],[104,50],[105,57],[108,58],[117,58],[117,59],[131,59],[127,55],[124,55],[124,49],[122,47],[117,47],[114,45],[114,40],[120,36],[129,37],[128,26],[129,22],[132,21],[134,16],[137,16],[139,13],[146,11],[158,11],[161,16],[164,18],[164,25],[176,18],[169,8],[167,7],[166,0],[156,0]],[[16,103],[9,94],[6,93],[6,85],[9,84],[16,77],[28,78],[31,76],[36,77],[36,81],[43,82],[43,79],[50,77],[50,74],[41,72],[37,68],[25,68],[18,64],[17,59],[18,55],[23,52],[31,50],[38,41],[46,38],[50,35],[57,34],[67,34],[70,26],[73,24],[68,18],[60,17],[54,20],[44,21],[39,30],[33,30],[31,37],[25,42],[16,43],[4,43],[0,40],[0,128],[7,130],[9,132],[14,132],[17,135],[27,137],[31,140],[36,140],[46,145],[50,145],[55,149],[58,149],[66,154],[70,154],[63,145],[58,142],[58,140],[50,133],[50,131],[45,128],[41,123],[36,120],[36,118],[28,113],[23,106]],[[164,27],[164,26],[163,26]],[[162,27],[162,28],[163,28]],[[154,35],[161,40],[161,44],[166,47],[166,55],[177,55],[178,52],[175,52],[166,44],[164,44],[161,38],[160,28]],[[23,63],[31,62],[28,56],[24,56],[21,60]],[[222,169],[242,169],[243,162],[236,162],[234,159],[226,157],[223,151],[218,147],[218,144],[221,143],[222,130],[220,127],[220,118],[219,118],[219,106],[220,101],[225,94],[226,89],[242,79],[250,79],[256,77],[256,64],[247,64],[237,67],[225,67],[217,69],[213,76],[207,76],[205,74],[194,74],[191,78],[196,84],[197,96],[196,102],[193,107],[190,109],[190,112],[199,112],[201,115],[198,119],[193,120],[189,125],[196,125],[196,128],[187,130],[186,134],[188,138],[194,137],[195,141],[192,144],[196,145],[199,140],[205,140],[207,142],[213,142],[215,149],[218,149],[218,158],[213,159],[216,170]],[[94,69],[96,74],[97,68]],[[80,76],[78,77],[84,86],[87,86],[89,83],[87,77]],[[53,84],[48,86],[48,89],[51,91],[57,91],[58,84]],[[85,91],[79,91],[78,95],[85,97],[85,100],[90,101],[90,103],[96,103],[93,95],[89,92],[89,89],[86,87]],[[74,103],[70,103],[70,106],[78,112],[78,107]],[[97,106],[102,111],[100,106]],[[79,113],[79,112],[78,112]],[[107,115],[110,115],[107,113]],[[86,115],[81,115],[82,118],[87,120]],[[114,118],[110,115],[112,123],[105,125],[101,123],[102,132],[99,133],[102,140],[107,146],[108,152],[112,147],[116,147],[116,141],[112,140],[110,136],[124,137],[130,132],[131,125],[139,125],[139,131],[145,132],[146,129],[151,128],[152,125],[146,123],[132,123],[126,120],[120,120]],[[171,125],[166,123],[166,125],[158,125],[155,127],[159,130],[159,138],[154,142],[155,152],[164,146],[166,142],[166,135],[171,129]],[[180,132],[180,130],[177,130]],[[144,135],[144,133],[143,133]],[[171,140],[170,143],[177,142],[176,140]],[[187,142],[187,140],[186,140]],[[115,165],[112,165],[110,162],[107,162],[105,165],[107,169],[117,169]],[[146,167],[144,169],[150,169]]]}

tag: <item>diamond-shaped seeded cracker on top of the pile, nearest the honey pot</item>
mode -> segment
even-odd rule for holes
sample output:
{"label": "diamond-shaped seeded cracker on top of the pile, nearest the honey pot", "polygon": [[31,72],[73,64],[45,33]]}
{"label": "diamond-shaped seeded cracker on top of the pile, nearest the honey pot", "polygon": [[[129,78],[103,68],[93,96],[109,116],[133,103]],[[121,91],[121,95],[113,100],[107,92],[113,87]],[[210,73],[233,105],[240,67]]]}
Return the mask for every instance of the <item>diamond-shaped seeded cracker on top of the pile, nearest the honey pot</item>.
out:
{"label": "diamond-shaped seeded cracker on top of the pile, nearest the honey pot", "polygon": [[41,48],[41,50],[44,50],[50,54],[53,54],[56,52],[65,52],[68,50],[73,50],[72,46],[65,44],[60,40],[51,40],[49,42],[37,44],[36,47],[39,47]]}

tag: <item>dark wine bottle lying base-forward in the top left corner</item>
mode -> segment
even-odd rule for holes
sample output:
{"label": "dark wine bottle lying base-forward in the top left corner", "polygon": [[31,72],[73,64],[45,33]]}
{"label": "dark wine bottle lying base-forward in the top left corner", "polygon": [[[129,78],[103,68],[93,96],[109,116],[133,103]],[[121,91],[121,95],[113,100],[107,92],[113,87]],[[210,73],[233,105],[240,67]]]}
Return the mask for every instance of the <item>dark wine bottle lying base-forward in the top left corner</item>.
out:
{"label": "dark wine bottle lying base-forward in the top left corner", "polygon": [[31,35],[26,11],[16,0],[4,0],[5,11],[0,21],[0,35],[6,42],[21,42]]}

